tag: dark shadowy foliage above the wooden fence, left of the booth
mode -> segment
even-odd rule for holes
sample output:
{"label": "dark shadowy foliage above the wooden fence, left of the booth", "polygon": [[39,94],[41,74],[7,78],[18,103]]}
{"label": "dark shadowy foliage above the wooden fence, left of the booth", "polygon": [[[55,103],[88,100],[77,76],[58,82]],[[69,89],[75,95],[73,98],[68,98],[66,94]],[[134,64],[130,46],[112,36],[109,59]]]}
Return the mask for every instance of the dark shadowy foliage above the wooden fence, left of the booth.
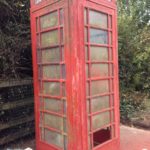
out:
{"label": "dark shadowy foliage above the wooden fence, left of the booth", "polygon": [[0,0],[0,78],[31,76],[29,1]]}

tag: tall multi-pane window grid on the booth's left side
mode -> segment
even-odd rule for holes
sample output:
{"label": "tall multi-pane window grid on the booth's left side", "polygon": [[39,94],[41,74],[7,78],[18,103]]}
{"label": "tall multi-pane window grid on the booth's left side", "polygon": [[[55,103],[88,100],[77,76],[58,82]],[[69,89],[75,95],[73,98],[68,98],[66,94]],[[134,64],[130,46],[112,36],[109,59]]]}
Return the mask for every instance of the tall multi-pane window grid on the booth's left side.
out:
{"label": "tall multi-pane window grid on the booth's left side", "polygon": [[63,15],[59,8],[37,17],[36,31],[40,137],[58,149],[66,147],[67,139]]}

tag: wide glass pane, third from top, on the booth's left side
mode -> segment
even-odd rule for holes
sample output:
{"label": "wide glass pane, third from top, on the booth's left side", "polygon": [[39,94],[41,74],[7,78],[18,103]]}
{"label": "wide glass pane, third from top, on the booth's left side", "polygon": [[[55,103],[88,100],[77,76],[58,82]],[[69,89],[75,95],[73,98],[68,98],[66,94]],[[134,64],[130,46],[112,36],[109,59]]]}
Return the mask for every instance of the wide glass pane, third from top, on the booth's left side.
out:
{"label": "wide glass pane, third from top, on the booth's left side", "polygon": [[59,48],[51,48],[48,50],[42,50],[42,63],[53,63],[60,61]]}

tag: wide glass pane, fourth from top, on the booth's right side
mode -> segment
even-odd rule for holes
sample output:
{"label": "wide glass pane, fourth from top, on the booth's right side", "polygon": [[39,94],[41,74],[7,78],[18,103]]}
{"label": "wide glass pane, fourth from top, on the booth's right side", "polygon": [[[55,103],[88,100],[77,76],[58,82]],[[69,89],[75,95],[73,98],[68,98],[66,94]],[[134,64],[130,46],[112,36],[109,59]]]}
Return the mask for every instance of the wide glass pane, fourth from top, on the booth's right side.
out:
{"label": "wide glass pane, fourth from top, on the booth's right side", "polygon": [[108,76],[108,64],[92,64],[91,65],[91,77],[103,77]]}

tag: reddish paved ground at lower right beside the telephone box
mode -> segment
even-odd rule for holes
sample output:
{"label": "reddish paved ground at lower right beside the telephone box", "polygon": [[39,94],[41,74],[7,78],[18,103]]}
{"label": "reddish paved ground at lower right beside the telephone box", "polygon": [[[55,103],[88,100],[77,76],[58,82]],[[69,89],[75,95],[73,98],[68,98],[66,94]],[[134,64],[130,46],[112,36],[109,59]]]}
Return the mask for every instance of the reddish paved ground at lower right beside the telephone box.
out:
{"label": "reddish paved ground at lower right beside the telephone box", "polygon": [[121,126],[121,150],[150,150],[150,131]]}

